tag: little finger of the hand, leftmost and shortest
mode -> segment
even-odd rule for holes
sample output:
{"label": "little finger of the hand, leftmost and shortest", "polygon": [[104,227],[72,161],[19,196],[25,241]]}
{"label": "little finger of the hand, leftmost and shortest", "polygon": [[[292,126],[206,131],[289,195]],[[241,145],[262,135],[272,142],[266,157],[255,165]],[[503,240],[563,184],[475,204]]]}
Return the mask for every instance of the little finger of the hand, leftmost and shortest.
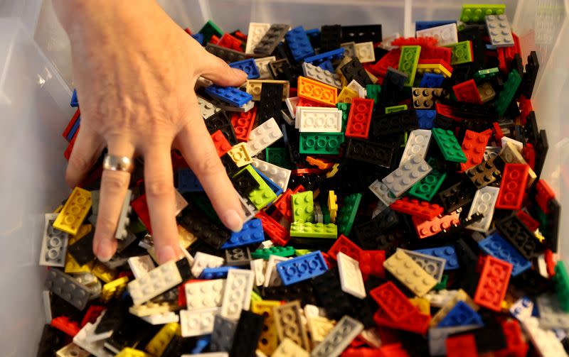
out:
{"label": "little finger of the hand, leftmost and shortest", "polygon": [[97,133],[87,126],[80,128],[65,172],[65,181],[70,187],[75,187],[83,181],[101,154],[102,144],[102,139]]}

